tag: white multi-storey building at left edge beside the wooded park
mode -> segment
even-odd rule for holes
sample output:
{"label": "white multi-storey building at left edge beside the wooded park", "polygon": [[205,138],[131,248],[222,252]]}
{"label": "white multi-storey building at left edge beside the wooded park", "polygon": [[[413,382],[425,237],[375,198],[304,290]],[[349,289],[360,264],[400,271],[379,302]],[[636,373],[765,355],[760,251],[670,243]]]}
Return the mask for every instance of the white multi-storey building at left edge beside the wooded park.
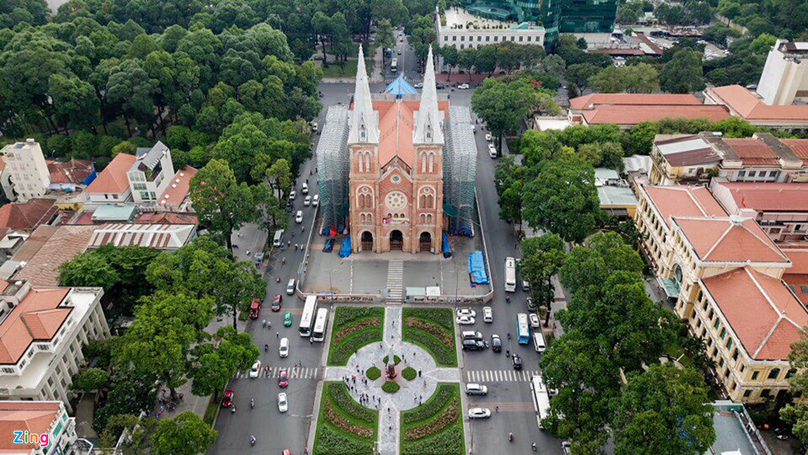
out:
{"label": "white multi-storey building at left edge beside the wooded park", "polygon": [[50,186],[50,171],[42,147],[33,139],[3,147],[6,163],[3,172],[3,192],[9,200],[26,202],[42,197]]}

